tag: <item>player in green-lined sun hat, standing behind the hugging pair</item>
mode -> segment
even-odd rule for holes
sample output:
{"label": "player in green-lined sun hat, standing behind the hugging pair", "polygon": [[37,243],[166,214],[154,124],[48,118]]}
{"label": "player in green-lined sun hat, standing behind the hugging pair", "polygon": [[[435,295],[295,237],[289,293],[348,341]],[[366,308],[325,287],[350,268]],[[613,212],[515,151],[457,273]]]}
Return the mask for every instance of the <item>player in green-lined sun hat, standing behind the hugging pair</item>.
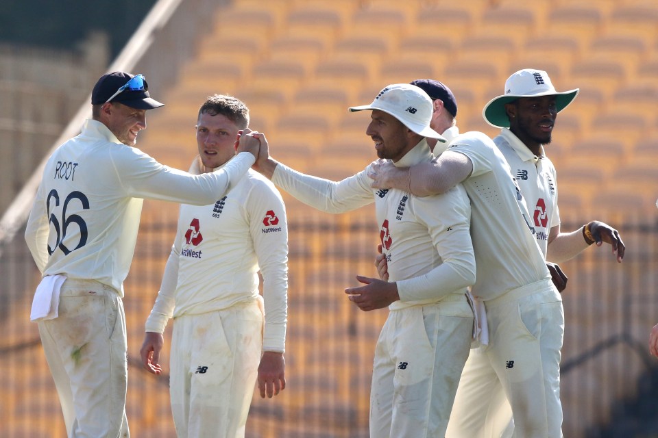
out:
{"label": "player in green-lined sun hat, standing behind the hugging pair", "polygon": [[[577,94],[578,89],[557,92],[545,71],[526,68],[507,79],[504,94],[485,105],[483,116],[489,125],[502,128],[493,142],[521,189],[544,257],[566,261],[594,242],[599,246],[606,242],[621,262],[624,243],[618,231],[604,222],[592,221],[570,233],[561,232],[557,171],[544,147],[551,141],[557,113]],[[513,436],[511,421],[504,389],[487,359],[486,347],[480,346],[466,362],[446,436],[509,437]]]}

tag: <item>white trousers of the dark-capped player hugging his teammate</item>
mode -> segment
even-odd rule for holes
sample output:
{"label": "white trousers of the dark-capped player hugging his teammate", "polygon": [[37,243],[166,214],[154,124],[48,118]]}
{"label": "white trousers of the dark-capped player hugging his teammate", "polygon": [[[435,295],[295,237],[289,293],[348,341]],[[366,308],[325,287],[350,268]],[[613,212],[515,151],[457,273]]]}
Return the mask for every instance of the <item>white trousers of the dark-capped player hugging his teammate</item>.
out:
{"label": "white trousers of the dark-capped player hugging his teammate", "polygon": [[513,413],[511,436],[560,438],[559,292],[547,279],[485,301],[485,307],[489,345],[471,350],[446,437],[509,437]]}

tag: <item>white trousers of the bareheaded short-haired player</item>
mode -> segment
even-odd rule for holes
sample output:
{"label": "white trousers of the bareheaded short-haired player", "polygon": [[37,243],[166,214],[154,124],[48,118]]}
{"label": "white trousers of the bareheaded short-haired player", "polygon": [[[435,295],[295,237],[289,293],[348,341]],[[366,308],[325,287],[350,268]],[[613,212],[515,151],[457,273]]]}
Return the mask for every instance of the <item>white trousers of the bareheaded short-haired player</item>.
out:
{"label": "white trousers of the bareheaded short-haired player", "polygon": [[261,296],[174,319],[169,394],[178,438],[245,436],[264,322]]}

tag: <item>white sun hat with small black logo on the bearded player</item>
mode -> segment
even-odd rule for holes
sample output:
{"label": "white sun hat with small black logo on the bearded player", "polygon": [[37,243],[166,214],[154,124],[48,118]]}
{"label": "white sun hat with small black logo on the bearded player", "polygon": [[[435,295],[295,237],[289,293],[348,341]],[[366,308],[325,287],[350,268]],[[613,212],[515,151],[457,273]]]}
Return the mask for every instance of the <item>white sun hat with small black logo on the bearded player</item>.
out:
{"label": "white sun hat with small black logo on the bearded player", "polygon": [[392,83],[377,94],[370,105],[350,107],[351,112],[380,110],[400,120],[402,125],[419,136],[436,138],[447,143],[440,133],[430,128],[432,99],[422,89],[410,83]]}

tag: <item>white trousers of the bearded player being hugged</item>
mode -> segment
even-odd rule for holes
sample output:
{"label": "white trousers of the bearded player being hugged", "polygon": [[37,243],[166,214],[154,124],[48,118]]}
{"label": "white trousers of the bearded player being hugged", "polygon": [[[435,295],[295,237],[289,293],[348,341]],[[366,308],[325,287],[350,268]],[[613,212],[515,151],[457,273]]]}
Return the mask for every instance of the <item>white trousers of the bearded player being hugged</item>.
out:
{"label": "white trousers of the bearded player being hugged", "polygon": [[472,331],[464,294],[389,313],[375,347],[372,438],[443,437]]}

